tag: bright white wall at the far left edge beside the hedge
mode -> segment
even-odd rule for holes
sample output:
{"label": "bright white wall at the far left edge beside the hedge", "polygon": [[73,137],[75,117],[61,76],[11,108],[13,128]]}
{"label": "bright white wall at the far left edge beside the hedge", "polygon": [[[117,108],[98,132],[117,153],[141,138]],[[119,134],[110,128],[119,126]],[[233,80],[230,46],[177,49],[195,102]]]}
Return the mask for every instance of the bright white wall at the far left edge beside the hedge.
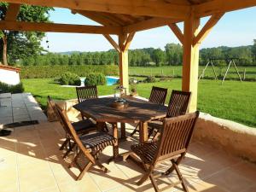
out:
{"label": "bright white wall at the far left edge beside the hedge", "polygon": [[0,81],[5,84],[19,84],[20,73],[16,73],[15,71],[0,69]]}

